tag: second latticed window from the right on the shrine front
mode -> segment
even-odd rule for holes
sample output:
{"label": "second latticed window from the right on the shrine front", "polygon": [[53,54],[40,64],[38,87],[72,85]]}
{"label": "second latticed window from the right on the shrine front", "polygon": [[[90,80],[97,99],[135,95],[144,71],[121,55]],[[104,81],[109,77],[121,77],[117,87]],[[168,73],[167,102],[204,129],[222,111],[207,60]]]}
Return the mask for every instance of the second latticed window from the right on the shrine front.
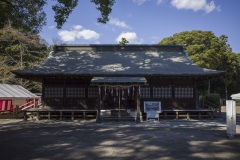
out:
{"label": "second latticed window from the right on the shrine front", "polygon": [[153,88],[153,98],[172,98],[171,87]]}

